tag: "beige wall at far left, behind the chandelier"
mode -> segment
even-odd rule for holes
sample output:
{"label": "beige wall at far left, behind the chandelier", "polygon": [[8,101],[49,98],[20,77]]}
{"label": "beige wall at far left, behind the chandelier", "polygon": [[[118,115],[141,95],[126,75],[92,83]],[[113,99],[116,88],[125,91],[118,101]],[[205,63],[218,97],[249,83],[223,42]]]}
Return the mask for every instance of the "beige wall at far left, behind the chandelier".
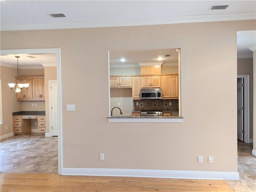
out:
{"label": "beige wall at far left, behind the chandelier", "polygon": [[[6,135],[13,132],[12,112],[21,111],[22,106],[20,101],[16,101],[16,93],[13,93],[8,86],[8,83],[16,83],[17,69],[10,67],[1,68],[2,79],[2,112],[3,125],[0,127],[0,135]],[[5,127],[8,127],[6,130]]]}

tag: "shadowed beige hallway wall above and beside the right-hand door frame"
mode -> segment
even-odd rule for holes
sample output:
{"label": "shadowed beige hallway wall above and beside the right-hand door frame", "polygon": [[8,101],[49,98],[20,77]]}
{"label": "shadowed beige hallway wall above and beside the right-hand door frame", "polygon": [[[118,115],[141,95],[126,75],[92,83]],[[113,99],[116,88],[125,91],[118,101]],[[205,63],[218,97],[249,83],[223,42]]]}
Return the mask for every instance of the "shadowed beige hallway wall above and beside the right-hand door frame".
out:
{"label": "shadowed beige hallway wall above and beside the right-hand door frame", "polygon": [[253,60],[237,59],[237,74],[250,75],[250,139],[253,137]]}

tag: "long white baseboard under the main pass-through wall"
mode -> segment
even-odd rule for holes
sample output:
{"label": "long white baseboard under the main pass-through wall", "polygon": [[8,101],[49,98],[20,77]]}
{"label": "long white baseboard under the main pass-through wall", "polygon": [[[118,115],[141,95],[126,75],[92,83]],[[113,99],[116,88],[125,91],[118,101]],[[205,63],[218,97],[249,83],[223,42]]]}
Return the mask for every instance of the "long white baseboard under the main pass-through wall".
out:
{"label": "long white baseboard under the main pass-through wall", "polygon": [[63,168],[62,174],[63,175],[87,175],[87,176],[128,176],[128,177],[153,177],[153,178],[239,180],[238,172],[213,172],[213,171]]}

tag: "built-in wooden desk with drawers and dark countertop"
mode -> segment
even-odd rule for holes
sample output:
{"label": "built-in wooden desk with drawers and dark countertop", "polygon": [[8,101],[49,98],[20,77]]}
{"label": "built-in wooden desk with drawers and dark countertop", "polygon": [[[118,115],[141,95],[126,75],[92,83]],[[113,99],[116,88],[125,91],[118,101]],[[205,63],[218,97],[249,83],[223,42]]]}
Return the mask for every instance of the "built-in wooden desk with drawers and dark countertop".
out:
{"label": "built-in wooden desk with drawers and dark countertop", "polygon": [[[23,111],[14,112],[13,115],[13,133],[15,135],[26,135],[31,133],[32,119],[37,120],[38,134],[46,133],[45,111]],[[29,115],[31,113],[32,115]]]}

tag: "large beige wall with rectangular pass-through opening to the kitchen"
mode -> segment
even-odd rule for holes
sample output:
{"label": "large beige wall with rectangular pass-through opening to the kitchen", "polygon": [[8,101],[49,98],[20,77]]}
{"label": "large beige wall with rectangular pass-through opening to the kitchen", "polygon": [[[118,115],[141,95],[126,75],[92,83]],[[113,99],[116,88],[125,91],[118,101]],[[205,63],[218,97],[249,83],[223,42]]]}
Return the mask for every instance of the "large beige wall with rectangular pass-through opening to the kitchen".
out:
{"label": "large beige wall with rectangular pass-through opening to the kitchen", "polygon": [[[255,20],[0,35],[1,49],[61,49],[64,167],[237,172],[236,33],[244,30],[256,30]],[[108,51],[170,48],[182,53],[183,123],[109,123]]]}

